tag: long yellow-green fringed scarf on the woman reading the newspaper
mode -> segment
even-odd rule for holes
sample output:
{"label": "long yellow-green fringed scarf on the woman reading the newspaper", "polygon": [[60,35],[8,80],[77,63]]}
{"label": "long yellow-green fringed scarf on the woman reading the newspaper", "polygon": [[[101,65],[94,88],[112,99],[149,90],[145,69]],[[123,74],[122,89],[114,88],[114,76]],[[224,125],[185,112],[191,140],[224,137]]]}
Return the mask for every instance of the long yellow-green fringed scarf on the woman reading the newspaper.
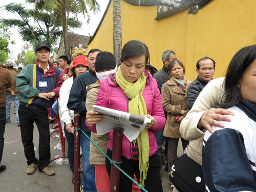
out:
{"label": "long yellow-green fringed scarf on the woman reading the newspaper", "polygon": [[[128,105],[128,112],[140,116],[146,115],[146,103],[142,96],[146,84],[145,73],[143,72],[135,82],[129,82],[124,78],[122,68],[119,66],[118,71],[116,72],[116,82],[125,95],[131,99]],[[147,129],[140,132],[140,135],[137,138],[137,143],[139,150],[140,185],[144,187],[144,181],[148,170],[148,156],[150,155],[150,143],[148,140]]]}

